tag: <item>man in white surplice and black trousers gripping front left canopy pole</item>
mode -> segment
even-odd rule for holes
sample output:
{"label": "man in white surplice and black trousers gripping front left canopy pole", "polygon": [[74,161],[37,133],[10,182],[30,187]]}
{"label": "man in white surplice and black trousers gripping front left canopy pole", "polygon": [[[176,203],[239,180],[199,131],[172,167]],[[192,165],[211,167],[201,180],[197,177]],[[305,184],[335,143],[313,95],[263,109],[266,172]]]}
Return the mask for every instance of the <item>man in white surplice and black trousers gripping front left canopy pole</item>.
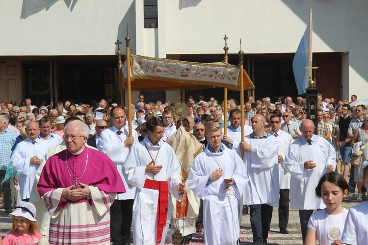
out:
{"label": "man in white surplice and black trousers gripping front left canopy pole", "polygon": [[129,154],[129,148],[138,143],[138,134],[132,130],[132,136],[129,136],[129,128],[125,125],[125,110],[122,107],[113,107],[110,113],[113,126],[101,133],[97,149],[104,152],[114,162],[127,191],[116,195],[110,208],[111,242],[113,245],[125,245],[129,244],[131,237],[135,187],[127,184],[123,166]]}

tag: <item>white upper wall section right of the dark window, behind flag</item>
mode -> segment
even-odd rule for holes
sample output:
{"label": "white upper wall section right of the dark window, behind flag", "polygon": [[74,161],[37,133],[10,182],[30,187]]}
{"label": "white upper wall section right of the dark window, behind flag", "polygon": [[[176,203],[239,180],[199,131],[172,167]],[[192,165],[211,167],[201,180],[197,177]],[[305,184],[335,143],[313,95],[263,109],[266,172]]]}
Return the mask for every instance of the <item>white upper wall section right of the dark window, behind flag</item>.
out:
{"label": "white upper wall section right of the dark window, behind flag", "polygon": [[348,49],[346,0],[202,0],[181,10],[179,0],[166,5],[166,52],[170,54],[222,53],[225,34],[229,53],[238,52],[240,38],[245,53],[295,52],[310,8],[314,52]]}

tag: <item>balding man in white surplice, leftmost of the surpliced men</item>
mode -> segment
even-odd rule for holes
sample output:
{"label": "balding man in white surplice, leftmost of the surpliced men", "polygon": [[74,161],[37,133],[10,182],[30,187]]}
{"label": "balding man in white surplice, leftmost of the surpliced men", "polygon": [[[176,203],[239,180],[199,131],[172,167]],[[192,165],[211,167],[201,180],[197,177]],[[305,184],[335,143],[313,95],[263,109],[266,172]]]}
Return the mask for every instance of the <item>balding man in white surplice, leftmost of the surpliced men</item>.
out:
{"label": "balding man in white surplice, leftmost of the surpliced men", "polygon": [[20,173],[19,186],[23,201],[29,200],[36,172],[42,163],[47,149],[50,147],[47,141],[37,138],[40,133],[38,122],[28,122],[26,133],[27,139],[15,147],[10,158],[11,166]]}

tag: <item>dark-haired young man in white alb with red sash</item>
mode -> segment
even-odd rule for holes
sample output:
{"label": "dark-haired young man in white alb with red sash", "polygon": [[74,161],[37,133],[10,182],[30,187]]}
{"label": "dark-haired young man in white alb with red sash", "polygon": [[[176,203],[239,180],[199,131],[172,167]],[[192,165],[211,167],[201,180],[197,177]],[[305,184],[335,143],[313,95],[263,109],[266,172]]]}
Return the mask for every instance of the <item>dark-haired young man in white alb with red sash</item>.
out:
{"label": "dark-haired young man in white alb with red sash", "polygon": [[133,205],[134,244],[165,243],[171,217],[170,194],[180,200],[185,191],[180,164],[172,147],[162,140],[164,124],[150,118],[148,135],[131,148],[124,164],[129,185],[136,188]]}

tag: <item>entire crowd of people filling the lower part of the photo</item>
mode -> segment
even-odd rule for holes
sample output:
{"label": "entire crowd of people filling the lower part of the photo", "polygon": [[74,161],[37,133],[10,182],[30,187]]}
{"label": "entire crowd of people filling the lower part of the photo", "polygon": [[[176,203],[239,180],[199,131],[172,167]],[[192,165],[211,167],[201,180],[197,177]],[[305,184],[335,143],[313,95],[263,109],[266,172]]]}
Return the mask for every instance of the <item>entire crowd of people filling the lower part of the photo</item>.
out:
{"label": "entire crowd of people filling the lower part of the photo", "polygon": [[366,105],[318,94],[315,125],[304,98],[274,100],[250,97],[242,109],[229,99],[226,115],[224,102],[203,96],[187,99],[185,115],[142,94],[131,110],[111,98],[1,102],[2,208],[13,220],[3,244],[42,235],[50,244],[164,244],[170,227],[174,244],[203,231],[205,244],[234,245],[249,214],[263,245],[273,208],[289,233],[290,207],[303,244],[367,243],[366,204],[341,207],[349,192],[366,198]]}

